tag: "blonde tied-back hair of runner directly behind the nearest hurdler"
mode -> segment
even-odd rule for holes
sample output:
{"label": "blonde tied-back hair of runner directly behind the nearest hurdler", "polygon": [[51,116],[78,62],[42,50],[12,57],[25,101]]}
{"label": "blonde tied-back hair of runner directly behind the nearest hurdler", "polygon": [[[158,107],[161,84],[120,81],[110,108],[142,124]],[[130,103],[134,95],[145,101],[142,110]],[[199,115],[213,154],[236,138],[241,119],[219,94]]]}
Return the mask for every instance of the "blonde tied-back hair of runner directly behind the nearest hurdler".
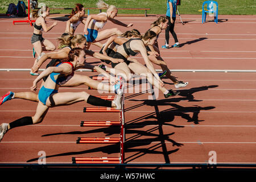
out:
{"label": "blonde tied-back hair of runner directly behind the nearest hurdler", "polygon": [[60,44],[59,49],[66,47],[66,46],[73,46],[75,47],[76,44],[81,44],[82,42],[86,41],[86,38],[84,35],[77,34],[73,36],[72,34],[68,34],[65,36],[61,36],[61,38],[58,38]]}

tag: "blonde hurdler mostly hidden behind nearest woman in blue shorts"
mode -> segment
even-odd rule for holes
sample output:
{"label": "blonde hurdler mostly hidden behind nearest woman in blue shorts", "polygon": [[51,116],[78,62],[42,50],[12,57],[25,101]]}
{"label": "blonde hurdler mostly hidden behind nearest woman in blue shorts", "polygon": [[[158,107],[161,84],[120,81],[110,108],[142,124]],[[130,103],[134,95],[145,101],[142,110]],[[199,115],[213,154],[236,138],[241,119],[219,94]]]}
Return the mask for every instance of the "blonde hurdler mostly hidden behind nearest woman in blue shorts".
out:
{"label": "blonde hurdler mostly hidden behind nearest woman in blue shorts", "polygon": [[[72,36],[72,35],[69,35],[69,36]],[[53,52],[47,53],[46,55],[42,56],[42,59],[44,57],[46,57],[46,59],[52,58],[51,62],[47,65],[47,67],[55,66],[56,63],[61,63],[61,60],[68,59],[68,54],[73,48],[84,49],[86,39],[83,35],[80,35],[80,34],[75,35],[72,39],[70,39],[69,36],[64,36],[64,38],[59,38],[60,47],[63,47],[60,51],[57,51],[56,53],[53,53]],[[109,60],[110,58],[111,60],[115,60],[112,57],[104,56],[104,55],[101,55],[100,53],[97,53],[97,54],[100,55],[100,58],[103,58],[106,60]],[[89,52],[89,55],[93,56],[93,52]],[[110,76],[107,72],[104,71],[104,69],[101,69],[100,67],[97,67],[94,65],[85,64],[84,68],[93,69],[99,73],[102,73],[104,76],[109,78],[111,85],[98,82],[86,75],[75,74],[70,78],[70,80],[68,80],[67,82],[63,82],[60,86],[74,87],[79,85],[86,85],[86,86],[89,86],[90,88],[97,89],[97,90],[109,91],[111,93],[117,92],[117,89],[120,87],[120,84],[121,84],[121,82],[118,82],[119,80],[117,78]],[[38,96],[36,93],[33,93],[33,92],[14,93],[9,91],[4,96],[0,97],[0,105],[2,105],[4,102],[9,101],[13,98],[20,98],[24,100],[38,102]]]}

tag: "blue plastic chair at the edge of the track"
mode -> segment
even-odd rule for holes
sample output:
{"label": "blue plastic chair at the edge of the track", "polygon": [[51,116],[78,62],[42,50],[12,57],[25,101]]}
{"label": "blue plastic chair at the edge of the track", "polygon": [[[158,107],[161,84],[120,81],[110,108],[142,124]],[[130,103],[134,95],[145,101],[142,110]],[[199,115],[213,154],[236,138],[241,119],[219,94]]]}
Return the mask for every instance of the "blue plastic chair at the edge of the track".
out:
{"label": "blue plastic chair at the edge of the track", "polygon": [[[207,9],[205,9],[207,5]],[[208,14],[214,15],[214,22],[218,23],[218,3],[216,1],[205,1],[202,6],[202,23],[205,22],[206,16]]]}

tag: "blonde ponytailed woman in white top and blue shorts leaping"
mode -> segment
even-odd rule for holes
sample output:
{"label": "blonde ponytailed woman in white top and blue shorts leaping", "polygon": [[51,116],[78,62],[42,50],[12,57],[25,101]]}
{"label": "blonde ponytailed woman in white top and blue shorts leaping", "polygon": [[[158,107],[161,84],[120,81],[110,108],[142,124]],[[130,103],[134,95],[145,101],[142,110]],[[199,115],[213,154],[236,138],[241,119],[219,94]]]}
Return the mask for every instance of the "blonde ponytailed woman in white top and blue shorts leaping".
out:
{"label": "blonde ponytailed woman in white top and blue shorts leaping", "polygon": [[86,37],[86,40],[88,42],[88,48],[90,47],[91,43],[96,43],[101,40],[108,39],[112,35],[121,35],[122,32],[118,30],[118,28],[111,28],[108,30],[102,29],[106,22],[110,20],[111,22],[118,24],[120,26],[124,27],[131,27],[133,26],[133,23],[125,24],[120,22],[119,20],[115,20],[115,16],[117,15],[118,9],[114,5],[109,6],[104,1],[98,1],[97,3],[98,8],[101,9],[108,9],[105,12],[102,12],[97,15],[89,15],[86,19],[85,27],[84,27],[84,36]]}

